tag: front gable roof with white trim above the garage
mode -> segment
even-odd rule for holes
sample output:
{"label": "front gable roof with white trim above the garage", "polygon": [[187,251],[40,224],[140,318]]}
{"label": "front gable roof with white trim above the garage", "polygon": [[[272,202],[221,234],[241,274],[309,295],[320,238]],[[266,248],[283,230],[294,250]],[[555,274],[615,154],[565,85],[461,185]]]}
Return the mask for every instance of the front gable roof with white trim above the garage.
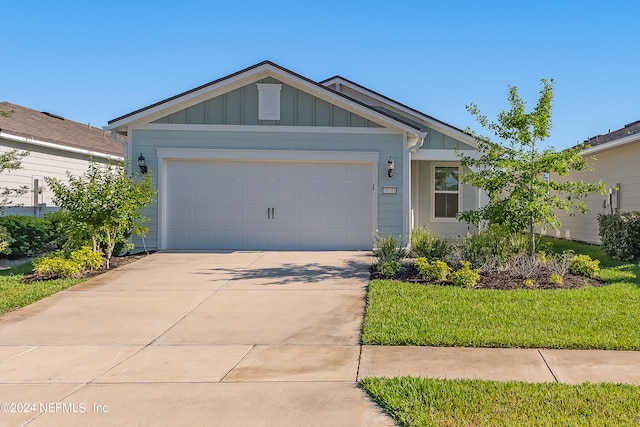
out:
{"label": "front gable roof with white trim above the garage", "polygon": [[251,81],[267,76],[274,77],[297,87],[304,87],[316,96],[330,99],[330,102],[340,104],[352,111],[357,110],[365,116],[377,119],[378,122],[387,123],[390,126],[398,127],[416,135],[420,134],[420,127],[408,120],[395,117],[385,111],[381,111],[347,95],[336,92],[321,83],[294,73],[293,71],[271,61],[260,62],[238,72],[229,74],[228,76],[213,80],[178,95],[132,111],[131,113],[117,117],[113,120],[109,120],[109,128],[118,132],[125,132],[126,127],[131,124],[152,121],[159,118],[159,115],[166,115],[169,112],[174,112],[174,110],[179,111],[189,105],[201,102],[207,98],[211,98],[212,96],[217,96],[218,93],[224,93],[228,91],[229,88],[235,88],[236,86],[239,87],[243,84],[248,84]]}

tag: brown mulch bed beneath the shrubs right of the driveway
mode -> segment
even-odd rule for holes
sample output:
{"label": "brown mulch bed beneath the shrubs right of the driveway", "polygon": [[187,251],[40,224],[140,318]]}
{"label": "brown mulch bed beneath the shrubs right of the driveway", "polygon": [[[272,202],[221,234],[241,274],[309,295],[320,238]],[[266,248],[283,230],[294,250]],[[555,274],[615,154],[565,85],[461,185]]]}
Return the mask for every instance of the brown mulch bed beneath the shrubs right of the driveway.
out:
{"label": "brown mulch bed beneath the shrubs right of the driveway", "polygon": [[[382,277],[380,272],[377,270],[377,265],[372,265],[369,268],[370,278],[371,279],[391,279],[391,280],[400,280],[403,282],[411,282],[411,283],[421,283],[425,285],[444,285],[444,286],[453,286],[449,282],[428,282],[420,277],[418,274],[418,269],[413,263],[410,261],[403,261],[401,263],[402,269],[396,274],[395,277],[388,278]],[[518,274],[513,274],[510,272],[504,271],[491,271],[491,272],[482,272],[480,273],[480,281],[476,284],[474,289],[498,289],[498,290],[511,290],[511,289],[580,289],[585,286],[606,286],[607,283],[603,282],[597,278],[586,278],[584,276],[577,276],[575,274],[567,273],[563,277],[562,284],[556,284],[549,282],[549,276],[551,272],[542,271],[541,273],[534,276],[523,276]],[[534,286],[527,287],[524,284],[526,279],[533,279]]]}

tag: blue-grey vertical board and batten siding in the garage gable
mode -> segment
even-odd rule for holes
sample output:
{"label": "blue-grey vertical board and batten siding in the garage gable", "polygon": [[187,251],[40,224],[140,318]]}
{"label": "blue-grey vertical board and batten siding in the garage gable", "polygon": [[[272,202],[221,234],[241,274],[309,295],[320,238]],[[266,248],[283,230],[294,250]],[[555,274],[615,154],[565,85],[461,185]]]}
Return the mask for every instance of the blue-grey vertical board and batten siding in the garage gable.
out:
{"label": "blue-grey vertical board and batten siding in the garage gable", "polygon": [[258,87],[252,83],[153,123],[210,125],[271,125],[374,127],[381,126],[293,86],[268,78],[257,83],[281,84],[280,120],[258,119]]}

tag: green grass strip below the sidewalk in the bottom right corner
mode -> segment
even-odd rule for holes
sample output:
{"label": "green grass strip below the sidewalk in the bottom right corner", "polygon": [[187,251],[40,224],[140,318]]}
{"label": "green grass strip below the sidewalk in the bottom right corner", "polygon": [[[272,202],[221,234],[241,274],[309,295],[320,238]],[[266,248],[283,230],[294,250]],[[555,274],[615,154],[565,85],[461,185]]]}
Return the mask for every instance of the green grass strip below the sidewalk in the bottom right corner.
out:
{"label": "green grass strip below the sidewalk in the bottom right corner", "polygon": [[365,378],[360,386],[401,426],[640,425],[640,387]]}

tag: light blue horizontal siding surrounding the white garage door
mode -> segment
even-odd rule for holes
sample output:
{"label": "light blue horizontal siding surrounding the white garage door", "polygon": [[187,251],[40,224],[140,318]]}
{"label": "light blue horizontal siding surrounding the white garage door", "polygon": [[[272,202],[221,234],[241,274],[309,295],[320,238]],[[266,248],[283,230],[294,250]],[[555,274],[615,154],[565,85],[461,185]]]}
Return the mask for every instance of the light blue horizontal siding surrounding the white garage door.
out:
{"label": "light blue horizontal siding surrounding the white garage door", "polygon": [[[326,130],[326,129],[325,129]],[[403,234],[403,150],[404,137],[400,134],[372,129],[369,133],[335,132],[248,132],[132,129],[129,137],[131,152],[142,153],[149,173],[158,183],[157,149],[227,149],[227,150],[298,150],[298,151],[346,151],[378,152],[378,171],[375,191],[378,194],[378,230],[381,235]],[[366,132],[366,131],[364,131]],[[133,157],[137,157],[134,155]],[[393,157],[395,174],[387,177],[387,160]],[[383,186],[395,186],[396,194],[382,194]],[[374,191],[372,189],[372,191]],[[158,204],[154,202],[143,214],[149,218],[149,233],[145,239],[147,248],[158,248]],[[373,240],[373,236],[372,236]],[[139,239],[134,239],[142,247]]]}

